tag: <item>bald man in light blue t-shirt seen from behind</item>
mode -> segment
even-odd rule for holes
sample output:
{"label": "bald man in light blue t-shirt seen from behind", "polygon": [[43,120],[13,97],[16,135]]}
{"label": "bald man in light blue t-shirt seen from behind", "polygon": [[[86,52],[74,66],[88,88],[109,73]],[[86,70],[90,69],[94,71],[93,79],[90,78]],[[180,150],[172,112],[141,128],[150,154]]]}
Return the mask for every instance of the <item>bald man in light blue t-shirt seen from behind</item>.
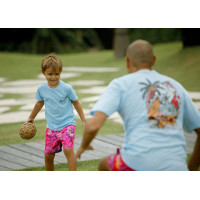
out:
{"label": "bald man in light blue t-shirt seen from behind", "polygon": [[[156,57],[144,40],[129,45],[128,75],[114,79],[92,109],[76,156],[90,146],[98,130],[115,111],[125,128],[125,144],[103,158],[99,170],[182,171],[200,166],[200,112],[187,91],[175,80],[151,70]],[[184,131],[197,140],[187,166]]]}

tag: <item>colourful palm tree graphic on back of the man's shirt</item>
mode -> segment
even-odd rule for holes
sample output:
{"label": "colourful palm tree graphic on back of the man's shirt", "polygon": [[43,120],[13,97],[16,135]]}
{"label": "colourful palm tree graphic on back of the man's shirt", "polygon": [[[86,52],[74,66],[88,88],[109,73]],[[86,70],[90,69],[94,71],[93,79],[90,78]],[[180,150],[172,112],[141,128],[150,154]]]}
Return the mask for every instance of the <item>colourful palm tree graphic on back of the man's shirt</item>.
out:
{"label": "colourful palm tree graphic on back of the man's shirt", "polygon": [[149,121],[160,128],[165,128],[167,124],[173,126],[180,107],[180,97],[175,88],[168,81],[151,83],[146,79],[139,84],[142,85],[142,98],[146,99]]}

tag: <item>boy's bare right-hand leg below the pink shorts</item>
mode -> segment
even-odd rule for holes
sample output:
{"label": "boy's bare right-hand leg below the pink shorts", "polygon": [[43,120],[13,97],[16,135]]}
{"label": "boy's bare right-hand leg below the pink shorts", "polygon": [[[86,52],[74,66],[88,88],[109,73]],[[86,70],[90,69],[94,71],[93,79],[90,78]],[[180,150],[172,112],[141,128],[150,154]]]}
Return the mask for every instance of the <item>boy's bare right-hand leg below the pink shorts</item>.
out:
{"label": "boy's bare right-hand leg below the pink shorts", "polygon": [[68,161],[69,171],[76,171],[76,156],[74,154],[74,149],[65,148],[63,149],[63,152]]}

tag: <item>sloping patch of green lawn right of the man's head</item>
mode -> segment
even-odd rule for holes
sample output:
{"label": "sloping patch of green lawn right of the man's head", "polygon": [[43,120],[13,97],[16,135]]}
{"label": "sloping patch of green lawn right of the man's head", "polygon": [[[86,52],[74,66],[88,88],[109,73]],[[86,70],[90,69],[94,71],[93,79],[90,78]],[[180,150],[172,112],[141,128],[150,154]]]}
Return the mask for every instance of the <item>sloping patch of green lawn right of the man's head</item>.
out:
{"label": "sloping patch of green lawn right of the man's head", "polygon": [[188,91],[200,91],[200,46],[182,49],[180,43],[156,45],[158,72],[180,82]]}

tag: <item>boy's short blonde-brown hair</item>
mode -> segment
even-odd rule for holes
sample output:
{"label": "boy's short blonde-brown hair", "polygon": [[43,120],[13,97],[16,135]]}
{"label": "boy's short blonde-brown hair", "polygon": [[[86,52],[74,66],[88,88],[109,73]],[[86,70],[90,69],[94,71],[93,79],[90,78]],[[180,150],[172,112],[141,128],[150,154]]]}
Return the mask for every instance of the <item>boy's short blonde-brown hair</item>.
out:
{"label": "boy's short blonde-brown hair", "polygon": [[45,72],[48,68],[52,67],[53,70],[59,69],[62,71],[62,62],[55,54],[49,54],[42,60],[42,72]]}

